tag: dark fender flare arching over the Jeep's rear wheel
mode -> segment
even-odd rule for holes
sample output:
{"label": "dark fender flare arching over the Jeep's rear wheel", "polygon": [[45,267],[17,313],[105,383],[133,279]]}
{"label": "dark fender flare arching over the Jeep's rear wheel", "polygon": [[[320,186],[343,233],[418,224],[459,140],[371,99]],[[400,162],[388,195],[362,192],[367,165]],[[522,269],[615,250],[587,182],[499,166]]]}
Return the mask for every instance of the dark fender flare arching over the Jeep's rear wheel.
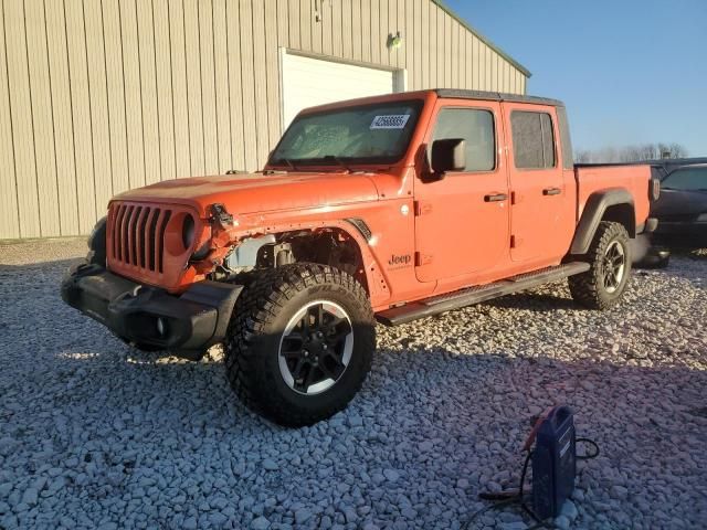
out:
{"label": "dark fender flare arching over the Jeep's rear wheel", "polygon": [[[631,206],[631,211],[635,212],[633,197],[624,188],[611,188],[589,195],[582,211],[582,218],[579,220],[574,231],[570,254],[587,254],[606,210],[621,204]],[[626,230],[631,237],[635,237],[635,213],[632,214],[631,224],[626,226]]]}

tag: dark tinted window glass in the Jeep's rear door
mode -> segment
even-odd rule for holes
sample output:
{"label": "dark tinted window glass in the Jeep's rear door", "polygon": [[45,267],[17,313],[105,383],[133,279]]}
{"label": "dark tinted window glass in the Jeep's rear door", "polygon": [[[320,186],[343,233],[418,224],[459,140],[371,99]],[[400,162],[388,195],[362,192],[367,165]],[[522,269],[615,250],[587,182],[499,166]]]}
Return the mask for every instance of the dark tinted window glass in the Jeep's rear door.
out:
{"label": "dark tinted window glass in the Jeep's rear door", "polygon": [[510,114],[510,128],[516,168],[555,167],[555,135],[549,114],[515,110]]}

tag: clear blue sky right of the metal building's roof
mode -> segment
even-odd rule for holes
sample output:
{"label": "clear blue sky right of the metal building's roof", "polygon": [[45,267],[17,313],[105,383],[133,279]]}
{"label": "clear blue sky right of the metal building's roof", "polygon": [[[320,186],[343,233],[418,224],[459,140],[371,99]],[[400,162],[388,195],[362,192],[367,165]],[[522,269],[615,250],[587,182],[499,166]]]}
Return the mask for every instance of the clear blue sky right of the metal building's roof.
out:
{"label": "clear blue sky right of the metal building's roof", "polygon": [[678,142],[707,156],[707,0],[446,0],[562,99],[576,149]]}

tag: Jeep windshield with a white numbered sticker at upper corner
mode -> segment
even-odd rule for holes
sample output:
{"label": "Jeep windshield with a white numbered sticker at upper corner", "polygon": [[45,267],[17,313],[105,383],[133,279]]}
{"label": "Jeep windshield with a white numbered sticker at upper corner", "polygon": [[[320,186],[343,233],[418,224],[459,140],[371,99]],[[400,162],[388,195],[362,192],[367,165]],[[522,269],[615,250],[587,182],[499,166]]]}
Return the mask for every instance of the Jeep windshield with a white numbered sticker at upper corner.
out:
{"label": "Jeep windshield with a white numbered sticker at upper corner", "polygon": [[299,116],[270,163],[397,162],[408,150],[421,108],[421,100],[390,102]]}

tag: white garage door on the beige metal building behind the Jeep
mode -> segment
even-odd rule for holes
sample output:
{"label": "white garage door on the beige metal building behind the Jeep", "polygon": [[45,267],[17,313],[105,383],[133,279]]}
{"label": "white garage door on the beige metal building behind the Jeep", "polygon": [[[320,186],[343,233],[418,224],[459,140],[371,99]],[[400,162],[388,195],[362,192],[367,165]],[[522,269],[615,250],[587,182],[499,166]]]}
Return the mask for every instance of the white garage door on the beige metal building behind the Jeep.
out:
{"label": "white garage door on the beige metal building behind the Jeep", "polygon": [[283,54],[283,125],[299,110],[325,103],[390,94],[395,72]]}

